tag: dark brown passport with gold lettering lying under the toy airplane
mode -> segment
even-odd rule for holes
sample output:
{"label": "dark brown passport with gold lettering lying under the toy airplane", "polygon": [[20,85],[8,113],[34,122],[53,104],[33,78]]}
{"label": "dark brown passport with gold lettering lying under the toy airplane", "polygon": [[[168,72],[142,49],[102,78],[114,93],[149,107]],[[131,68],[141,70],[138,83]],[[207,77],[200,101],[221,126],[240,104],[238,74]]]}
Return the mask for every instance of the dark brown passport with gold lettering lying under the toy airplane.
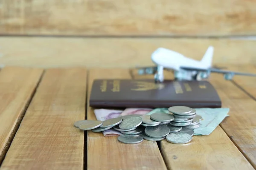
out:
{"label": "dark brown passport with gold lettering lying under the toy airplane", "polygon": [[154,79],[95,79],[89,105],[94,108],[221,108],[221,99],[208,81]]}

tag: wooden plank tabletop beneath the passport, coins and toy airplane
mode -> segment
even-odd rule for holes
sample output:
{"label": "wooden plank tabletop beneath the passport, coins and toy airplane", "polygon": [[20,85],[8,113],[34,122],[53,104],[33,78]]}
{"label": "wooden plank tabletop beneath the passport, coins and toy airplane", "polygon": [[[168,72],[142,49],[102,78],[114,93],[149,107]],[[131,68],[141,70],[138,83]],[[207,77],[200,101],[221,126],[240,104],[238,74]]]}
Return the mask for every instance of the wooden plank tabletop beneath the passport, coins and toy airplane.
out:
{"label": "wooden plank tabletop beneath the passport, coins and toy airplane", "polygon": [[[230,66],[256,73],[253,65]],[[172,77],[168,75],[167,77]],[[96,119],[88,107],[94,79],[152,78],[133,70],[5,67],[0,71],[0,170],[248,170],[256,168],[256,78],[212,74],[229,117],[188,144],[123,144],[73,126]]]}

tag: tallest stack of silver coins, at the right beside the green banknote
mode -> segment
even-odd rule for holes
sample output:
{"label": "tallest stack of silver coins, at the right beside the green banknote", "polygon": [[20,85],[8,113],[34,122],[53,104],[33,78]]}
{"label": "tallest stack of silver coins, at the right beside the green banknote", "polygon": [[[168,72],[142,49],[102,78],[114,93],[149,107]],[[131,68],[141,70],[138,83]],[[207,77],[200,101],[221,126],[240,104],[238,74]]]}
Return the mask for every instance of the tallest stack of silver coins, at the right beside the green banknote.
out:
{"label": "tallest stack of silver coins, at the right beside the green banknote", "polygon": [[200,127],[199,119],[194,119],[197,116],[195,109],[186,106],[173,106],[168,110],[174,116],[174,120],[170,122],[171,125],[190,129]]}

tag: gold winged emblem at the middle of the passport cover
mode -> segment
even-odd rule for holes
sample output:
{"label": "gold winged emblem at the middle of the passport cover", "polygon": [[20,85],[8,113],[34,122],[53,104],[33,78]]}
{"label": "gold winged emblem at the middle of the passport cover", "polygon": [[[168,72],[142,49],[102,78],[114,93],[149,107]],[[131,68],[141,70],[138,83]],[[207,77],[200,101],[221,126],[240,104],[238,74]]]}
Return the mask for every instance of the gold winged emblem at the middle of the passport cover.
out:
{"label": "gold winged emblem at the middle of the passport cover", "polygon": [[132,88],[132,91],[161,90],[164,88],[163,84],[157,84],[155,82],[134,81],[133,83],[135,84],[136,88]]}

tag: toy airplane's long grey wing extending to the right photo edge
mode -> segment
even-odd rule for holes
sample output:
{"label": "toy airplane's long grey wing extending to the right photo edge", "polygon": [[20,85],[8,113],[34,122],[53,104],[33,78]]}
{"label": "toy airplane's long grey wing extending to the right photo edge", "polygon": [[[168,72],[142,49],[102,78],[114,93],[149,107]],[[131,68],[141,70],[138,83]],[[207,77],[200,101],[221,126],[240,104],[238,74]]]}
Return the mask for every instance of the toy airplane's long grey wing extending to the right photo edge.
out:
{"label": "toy airplane's long grey wing extending to the right photo edge", "polygon": [[187,71],[202,71],[202,72],[212,72],[212,73],[222,73],[222,74],[256,77],[256,74],[242,73],[242,72],[235,72],[235,71],[225,71],[225,70],[220,70],[220,69],[216,69],[216,68],[201,69],[201,68],[181,67],[181,69],[187,70]]}

